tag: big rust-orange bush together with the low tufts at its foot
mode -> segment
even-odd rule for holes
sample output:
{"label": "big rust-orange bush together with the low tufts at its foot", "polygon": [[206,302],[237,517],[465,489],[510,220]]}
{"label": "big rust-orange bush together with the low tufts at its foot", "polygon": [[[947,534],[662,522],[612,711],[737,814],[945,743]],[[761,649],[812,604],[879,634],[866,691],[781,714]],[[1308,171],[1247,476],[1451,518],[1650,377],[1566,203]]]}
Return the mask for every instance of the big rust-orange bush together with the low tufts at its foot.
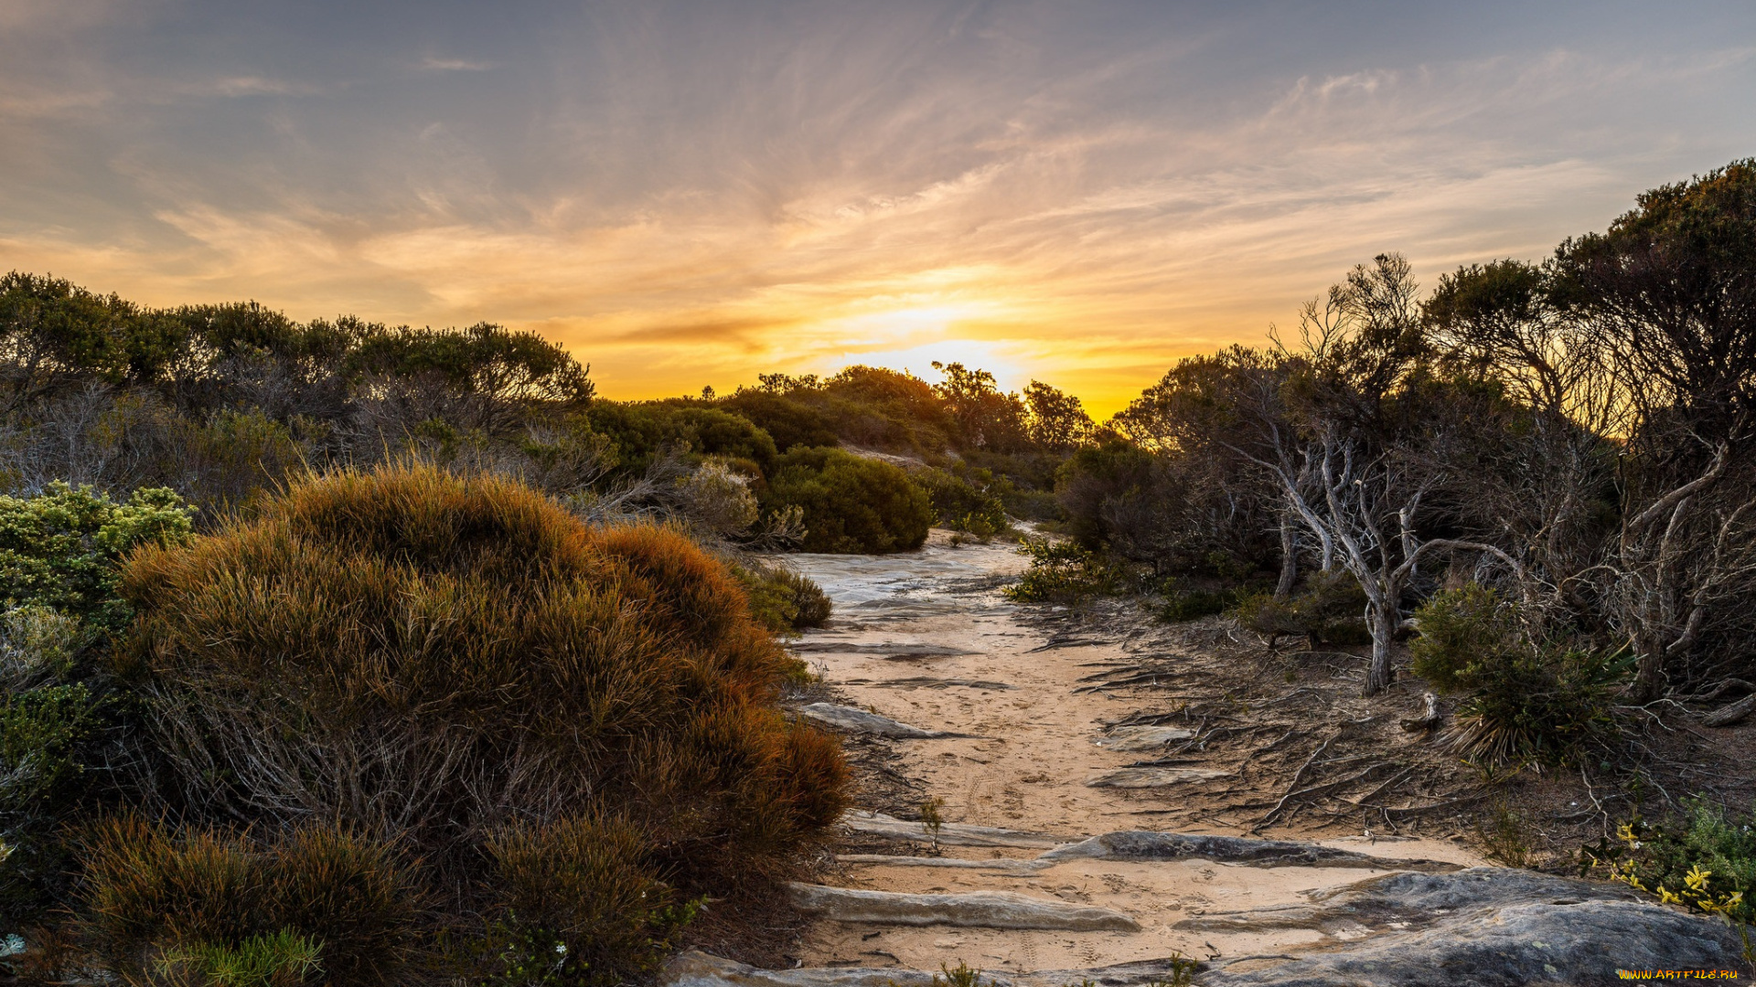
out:
{"label": "big rust-orange bush together with the low tufts at its foot", "polygon": [[615,983],[843,808],[725,566],[509,479],[309,478],[140,548],[121,597],[130,776],[46,838],[76,850],[61,933],[128,983],[246,954],[328,983]]}

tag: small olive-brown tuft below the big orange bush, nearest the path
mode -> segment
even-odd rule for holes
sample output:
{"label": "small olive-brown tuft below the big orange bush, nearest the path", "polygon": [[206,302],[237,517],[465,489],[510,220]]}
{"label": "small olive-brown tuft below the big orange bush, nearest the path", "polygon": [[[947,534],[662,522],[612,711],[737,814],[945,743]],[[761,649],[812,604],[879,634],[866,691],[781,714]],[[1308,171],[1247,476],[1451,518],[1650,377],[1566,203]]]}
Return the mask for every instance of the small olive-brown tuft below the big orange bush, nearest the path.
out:
{"label": "small olive-brown tuft below the big orange bush, nearest the path", "polygon": [[653,876],[643,832],[616,818],[513,825],[490,845],[504,915],[492,980],[611,987],[653,975],[699,904]]}

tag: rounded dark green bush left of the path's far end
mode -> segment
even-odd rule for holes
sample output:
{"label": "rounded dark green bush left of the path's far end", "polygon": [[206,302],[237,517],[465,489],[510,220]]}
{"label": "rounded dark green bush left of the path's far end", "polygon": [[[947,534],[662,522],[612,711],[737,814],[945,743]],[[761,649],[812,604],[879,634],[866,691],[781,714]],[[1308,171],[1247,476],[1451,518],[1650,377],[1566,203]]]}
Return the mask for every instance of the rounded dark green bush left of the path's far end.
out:
{"label": "rounded dark green bush left of the path's far end", "polygon": [[802,551],[904,551],[920,548],[932,525],[927,492],[899,467],[829,448],[774,460],[764,508],[790,506],[804,511]]}

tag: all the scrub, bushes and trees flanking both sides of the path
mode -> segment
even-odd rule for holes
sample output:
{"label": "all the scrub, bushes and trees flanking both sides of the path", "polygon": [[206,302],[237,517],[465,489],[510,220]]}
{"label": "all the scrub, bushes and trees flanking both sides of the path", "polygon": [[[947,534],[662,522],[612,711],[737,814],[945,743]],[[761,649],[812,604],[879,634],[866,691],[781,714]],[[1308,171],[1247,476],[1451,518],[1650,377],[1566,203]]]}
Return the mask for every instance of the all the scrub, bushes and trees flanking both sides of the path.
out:
{"label": "all the scrub, bushes and trees flanking both sides of the path", "polygon": [[[1034,527],[1020,602],[1407,669],[1484,773],[1619,769],[1756,710],[1752,313],[1756,160],[1540,262],[1378,255],[1101,425],[961,364],[616,402],[490,323],[9,274],[0,933],[128,983],[650,973],[841,808],[776,708],[829,618],[783,553],[932,525]],[[1730,818],[1601,854],[1747,917]]]}

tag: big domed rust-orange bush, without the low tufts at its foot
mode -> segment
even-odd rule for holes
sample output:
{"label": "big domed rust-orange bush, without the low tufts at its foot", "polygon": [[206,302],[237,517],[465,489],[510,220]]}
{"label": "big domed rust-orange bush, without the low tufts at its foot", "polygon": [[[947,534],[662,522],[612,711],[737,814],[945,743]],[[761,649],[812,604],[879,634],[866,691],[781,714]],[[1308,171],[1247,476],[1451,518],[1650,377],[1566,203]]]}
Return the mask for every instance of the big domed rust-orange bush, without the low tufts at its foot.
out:
{"label": "big domed rust-orange bush, without the low tufts at its foot", "polygon": [[453,911],[529,896],[506,847],[571,845],[534,832],[637,832],[637,869],[699,894],[781,873],[843,808],[841,753],[776,710],[795,662],[723,566],[507,479],[313,478],[140,551],[123,592],[167,808],[395,843]]}

